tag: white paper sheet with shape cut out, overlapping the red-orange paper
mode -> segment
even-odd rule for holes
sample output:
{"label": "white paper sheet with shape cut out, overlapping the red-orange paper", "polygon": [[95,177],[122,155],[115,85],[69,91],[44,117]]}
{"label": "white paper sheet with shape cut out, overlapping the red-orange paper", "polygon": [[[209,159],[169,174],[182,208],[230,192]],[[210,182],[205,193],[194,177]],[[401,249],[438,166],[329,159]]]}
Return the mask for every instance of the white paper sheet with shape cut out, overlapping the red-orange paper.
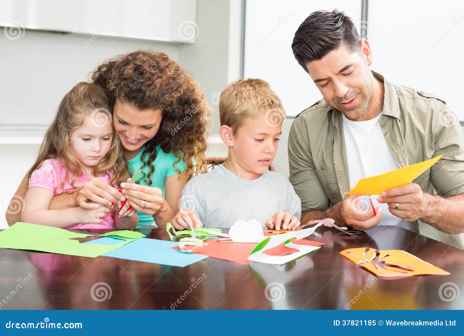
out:
{"label": "white paper sheet with shape cut out, overlapping the red-orange paper", "polygon": [[263,253],[264,251],[270,250],[273,247],[276,247],[291,238],[296,238],[296,240],[298,240],[298,239],[308,237],[321,225],[322,223],[318,223],[317,225],[311,228],[308,228],[308,229],[303,229],[303,230],[294,231],[294,232],[286,232],[280,235],[272,235],[271,237],[266,237],[266,238],[269,238],[268,243],[261,250],[251,253],[250,256],[248,257],[248,260],[258,261],[260,263],[265,263],[265,264],[282,265],[298,257],[304,256],[305,254],[308,254],[309,252],[319,250],[320,246],[316,247],[316,246],[308,246],[308,245],[299,245],[299,244],[293,244],[292,242],[290,242],[290,243],[285,244],[285,246],[290,247],[292,249],[296,249],[298,250],[297,252],[294,252],[294,253],[291,253],[285,256],[269,256]]}

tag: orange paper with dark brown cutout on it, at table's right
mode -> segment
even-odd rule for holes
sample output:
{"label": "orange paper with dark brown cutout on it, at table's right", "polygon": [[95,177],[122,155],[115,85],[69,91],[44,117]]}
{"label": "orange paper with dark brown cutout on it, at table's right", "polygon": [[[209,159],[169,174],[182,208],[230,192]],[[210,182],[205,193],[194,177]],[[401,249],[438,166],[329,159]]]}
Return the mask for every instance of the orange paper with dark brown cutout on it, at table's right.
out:
{"label": "orange paper with dark brown cutout on it, at table's right", "polygon": [[360,247],[343,250],[340,254],[371,271],[377,277],[450,274],[403,250],[376,250]]}

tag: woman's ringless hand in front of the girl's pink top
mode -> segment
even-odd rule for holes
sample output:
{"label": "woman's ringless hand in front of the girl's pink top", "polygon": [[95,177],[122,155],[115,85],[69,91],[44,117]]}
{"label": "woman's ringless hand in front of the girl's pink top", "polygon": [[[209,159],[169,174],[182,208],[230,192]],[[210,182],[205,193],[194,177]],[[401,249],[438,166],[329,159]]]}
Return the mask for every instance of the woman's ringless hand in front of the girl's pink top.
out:
{"label": "woman's ringless hand in front of the girl's pink top", "polygon": [[100,204],[111,207],[124,200],[122,193],[99,178],[90,178],[82,188],[74,192],[74,204],[84,209],[94,209]]}

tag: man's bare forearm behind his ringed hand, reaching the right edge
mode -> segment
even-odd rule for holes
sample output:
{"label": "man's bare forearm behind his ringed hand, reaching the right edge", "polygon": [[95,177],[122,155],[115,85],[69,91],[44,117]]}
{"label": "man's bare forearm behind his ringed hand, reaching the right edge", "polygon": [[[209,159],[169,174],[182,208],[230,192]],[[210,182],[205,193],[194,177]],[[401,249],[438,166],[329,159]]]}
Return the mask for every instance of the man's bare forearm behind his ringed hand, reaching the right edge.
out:
{"label": "man's bare forearm behind his ringed hand, reaching the right edge", "polygon": [[464,195],[443,198],[424,193],[424,197],[426,215],[420,220],[446,233],[464,232]]}

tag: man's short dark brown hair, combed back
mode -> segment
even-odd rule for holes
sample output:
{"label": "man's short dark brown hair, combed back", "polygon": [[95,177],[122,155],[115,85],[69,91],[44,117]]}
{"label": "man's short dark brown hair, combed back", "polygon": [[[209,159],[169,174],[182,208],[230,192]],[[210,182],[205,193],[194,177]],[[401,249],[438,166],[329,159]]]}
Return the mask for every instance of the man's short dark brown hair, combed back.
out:
{"label": "man's short dark brown hair, combed back", "polygon": [[322,59],[344,43],[351,52],[361,52],[361,38],[353,21],[345,13],[333,10],[311,13],[298,27],[291,44],[298,64],[306,65]]}

